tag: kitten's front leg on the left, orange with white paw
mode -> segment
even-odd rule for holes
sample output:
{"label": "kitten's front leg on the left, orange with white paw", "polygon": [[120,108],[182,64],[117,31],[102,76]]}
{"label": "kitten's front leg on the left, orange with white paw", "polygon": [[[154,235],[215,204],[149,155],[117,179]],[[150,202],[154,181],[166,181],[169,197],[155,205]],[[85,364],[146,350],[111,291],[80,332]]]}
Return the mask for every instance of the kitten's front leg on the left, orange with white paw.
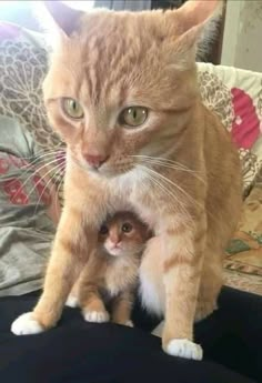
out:
{"label": "kitten's front leg on the left, orange with white paw", "polygon": [[103,323],[109,321],[109,313],[95,283],[82,279],[79,286],[79,304],[87,322]]}

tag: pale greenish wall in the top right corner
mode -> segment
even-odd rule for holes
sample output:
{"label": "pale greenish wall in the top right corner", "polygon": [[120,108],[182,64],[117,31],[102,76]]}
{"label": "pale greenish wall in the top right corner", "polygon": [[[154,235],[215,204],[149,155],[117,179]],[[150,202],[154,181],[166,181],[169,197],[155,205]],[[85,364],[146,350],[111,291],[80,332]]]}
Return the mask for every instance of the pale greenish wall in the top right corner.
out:
{"label": "pale greenish wall in the top right corner", "polygon": [[228,0],[221,63],[262,72],[261,0]]}

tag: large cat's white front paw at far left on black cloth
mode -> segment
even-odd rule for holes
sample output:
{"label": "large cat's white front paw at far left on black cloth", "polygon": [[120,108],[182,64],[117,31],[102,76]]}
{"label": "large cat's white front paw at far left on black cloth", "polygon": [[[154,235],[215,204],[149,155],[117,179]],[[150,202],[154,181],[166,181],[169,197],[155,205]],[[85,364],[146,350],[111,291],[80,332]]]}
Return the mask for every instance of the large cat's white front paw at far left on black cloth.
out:
{"label": "large cat's white front paw at far left on black cloth", "polygon": [[39,334],[43,331],[44,329],[32,318],[31,312],[18,316],[11,325],[11,332],[14,335]]}

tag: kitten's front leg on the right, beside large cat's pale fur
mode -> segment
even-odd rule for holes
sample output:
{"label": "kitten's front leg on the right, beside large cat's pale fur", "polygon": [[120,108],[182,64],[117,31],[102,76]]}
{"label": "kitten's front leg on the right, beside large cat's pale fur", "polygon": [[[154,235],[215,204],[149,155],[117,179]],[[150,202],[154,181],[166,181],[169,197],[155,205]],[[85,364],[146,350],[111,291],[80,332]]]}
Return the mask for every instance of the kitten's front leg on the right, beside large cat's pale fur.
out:
{"label": "kitten's front leg on the right, beside large cat's pale fur", "polygon": [[131,321],[131,311],[133,304],[133,294],[129,291],[122,292],[112,302],[112,322],[133,326]]}

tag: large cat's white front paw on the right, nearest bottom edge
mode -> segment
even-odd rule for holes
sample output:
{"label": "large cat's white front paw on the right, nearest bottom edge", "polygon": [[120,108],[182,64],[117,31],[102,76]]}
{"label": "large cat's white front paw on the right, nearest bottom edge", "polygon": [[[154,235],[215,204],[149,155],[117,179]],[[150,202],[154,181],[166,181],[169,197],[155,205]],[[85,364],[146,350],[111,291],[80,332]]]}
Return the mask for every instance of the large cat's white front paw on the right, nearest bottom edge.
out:
{"label": "large cat's white front paw on the right, nearest bottom edge", "polygon": [[203,357],[201,345],[187,339],[173,339],[169,342],[165,352],[172,356],[193,359],[195,361],[201,361]]}

